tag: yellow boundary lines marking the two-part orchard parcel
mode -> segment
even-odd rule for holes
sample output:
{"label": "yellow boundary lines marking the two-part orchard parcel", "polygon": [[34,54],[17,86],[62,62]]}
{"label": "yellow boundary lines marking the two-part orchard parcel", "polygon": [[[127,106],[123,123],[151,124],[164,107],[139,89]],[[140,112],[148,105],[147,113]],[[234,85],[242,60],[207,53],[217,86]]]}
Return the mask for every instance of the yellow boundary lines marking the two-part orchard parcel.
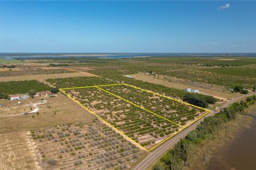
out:
{"label": "yellow boundary lines marking the two-part orchard parcel", "polygon": [[[126,100],[126,99],[124,99],[124,98],[122,98],[122,97],[120,97],[120,96],[117,96],[117,95],[115,95],[115,94],[113,94],[113,93],[111,93],[111,92],[109,92],[109,91],[107,91],[107,90],[104,90],[104,89],[100,88],[100,87],[105,87],[105,86],[118,86],[118,85],[130,86],[130,87],[132,87],[132,88],[139,89],[139,90],[142,90],[142,91],[146,91],[146,92],[149,92],[149,93],[154,94],[154,95],[157,95],[157,96],[161,96],[161,97],[164,97],[164,98],[167,98],[167,99],[171,99],[171,100],[174,100],[174,101],[178,101],[178,102],[183,103],[183,104],[186,104],[186,105],[190,105],[190,106],[193,106],[193,107],[197,107],[197,108],[199,108],[199,109],[203,109],[204,111],[207,111],[207,112],[206,112],[205,114],[203,114],[202,116],[198,117],[198,118],[197,118],[196,120],[194,120],[193,122],[189,123],[188,125],[186,125],[186,126],[181,126],[181,125],[179,125],[179,124],[177,124],[177,123],[175,123],[175,122],[172,122],[172,121],[168,120],[168,119],[165,118],[165,117],[162,117],[162,116],[160,116],[160,115],[157,115],[157,114],[154,113],[154,112],[148,111],[146,108],[143,108],[143,107],[141,107],[141,106],[138,106],[138,105],[132,103],[132,102],[129,101],[129,100]],[[107,92],[107,93],[110,94],[110,95],[113,95],[113,96],[115,96],[115,97],[117,97],[117,98],[119,98],[119,99],[122,99],[122,100],[126,101],[127,103],[130,103],[130,104],[132,104],[132,105],[134,105],[134,106],[137,106],[137,107],[139,107],[139,108],[141,108],[141,109],[143,109],[143,110],[145,110],[145,111],[147,111],[147,112],[149,112],[149,113],[152,113],[152,114],[154,114],[154,115],[156,115],[156,116],[159,116],[159,117],[161,117],[161,118],[164,118],[164,120],[167,120],[167,121],[169,121],[169,122],[171,122],[171,123],[174,123],[174,124],[176,124],[176,125],[179,125],[182,129],[180,129],[179,131],[173,133],[170,137],[164,139],[163,141],[159,142],[156,146],[154,146],[154,147],[152,147],[152,148],[150,148],[150,149],[148,150],[148,149],[142,147],[141,145],[139,145],[139,143],[137,143],[137,142],[135,142],[134,140],[132,140],[132,139],[131,139],[130,137],[128,137],[126,134],[124,134],[123,132],[121,132],[120,130],[118,130],[117,128],[115,128],[113,125],[111,125],[110,123],[108,123],[107,121],[105,121],[103,118],[101,118],[100,116],[98,116],[97,114],[95,114],[95,113],[94,113],[93,111],[91,111],[89,108],[85,107],[84,105],[82,105],[81,103],[79,103],[79,101],[75,100],[74,98],[72,98],[70,95],[68,95],[66,92],[63,91],[63,90],[67,90],[67,89],[81,89],[81,88],[92,88],[92,87],[95,87],[95,88],[98,88],[98,89],[100,89],[100,90],[102,90],[102,91],[105,91],[105,92]],[[162,143],[164,143],[166,140],[168,140],[168,139],[170,139],[171,137],[173,137],[175,134],[181,132],[183,129],[186,129],[189,125],[195,123],[196,121],[200,120],[201,118],[203,118],[204,116],[206,116],[207,114],[209,114],[209,113],[211,112],[209,109],[205,109],[205,108],[202,108],[202,107],[198,107],[198,106],[195,106],[195,105],[191,105],[191,104],[188,104],[188,103],[186,103],[186,102],[184,102],[184,101],[180,101],[180,100],[177,100],[177,99],[174,99],[174,98],[171,98],[171,97],[163,96],[163,95],[157,94],[157,93],[155,93],[155,92],[151,92],[151,91],[144,90],[144,89],[141,89],[141,88],[138,88],[138,87],[135,87],[135,86],[131,86],[130,84],[126,84],[126,83],[121,83],[121,84],[106,84],[106,85],[99,85],[99,86],[73,87],[73,88],[61,88],[61,89],[59,89],[59,90],[60,90],[61,92],[63,92],[63,94],[67,95],[70,99],[72,99],[73,101],[75,101],[75,103],[77,103],[77,104],[79,104],[80,106],[82,106],[83,108],[85,108],[85,109],[86,109],[87,111],[89,111],[91,114],[93,114],[93,115],[99,117],[103,122],[105,122],[106,124],[108,124],[109,126],[111,126],[112,128],[114,128],[116,131],[118,131],[119,133],[121,133],[122,135],[124,135],[126,138],[130,139],[135,145],[139,146],[140,148],[142,148],[143,150],[146,150],[146,151],[150,151],[150,150],[156,148],[157,146],[159,146],[159,145],[161,145]]]}

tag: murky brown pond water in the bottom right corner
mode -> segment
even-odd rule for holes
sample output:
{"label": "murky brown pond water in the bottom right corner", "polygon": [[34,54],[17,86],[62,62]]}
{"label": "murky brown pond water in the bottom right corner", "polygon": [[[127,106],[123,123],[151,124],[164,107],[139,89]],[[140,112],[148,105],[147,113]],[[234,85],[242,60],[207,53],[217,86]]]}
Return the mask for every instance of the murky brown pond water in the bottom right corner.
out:
{"label": "murky brown pond water in the bottom right corner", "polygon": [[237,133],[233,140],[213,152],[206,169],[256,169],[256,118],[253,118],[250,128],[242,128]]}

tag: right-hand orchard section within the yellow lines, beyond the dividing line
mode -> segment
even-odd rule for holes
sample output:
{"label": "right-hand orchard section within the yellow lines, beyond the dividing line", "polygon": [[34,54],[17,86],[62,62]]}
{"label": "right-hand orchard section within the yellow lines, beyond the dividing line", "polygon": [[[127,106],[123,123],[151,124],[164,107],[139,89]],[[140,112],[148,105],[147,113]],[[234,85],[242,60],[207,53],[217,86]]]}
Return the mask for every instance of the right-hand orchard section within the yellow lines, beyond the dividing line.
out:
{"label": "right-hand orchard section within the yellow lines, beyond the dividing line", "polygon": [[105,86],[102,88],[182,126],[189,124],[191,120],[193,121],[205,113],[204,109],[189,106],[130,86]]}

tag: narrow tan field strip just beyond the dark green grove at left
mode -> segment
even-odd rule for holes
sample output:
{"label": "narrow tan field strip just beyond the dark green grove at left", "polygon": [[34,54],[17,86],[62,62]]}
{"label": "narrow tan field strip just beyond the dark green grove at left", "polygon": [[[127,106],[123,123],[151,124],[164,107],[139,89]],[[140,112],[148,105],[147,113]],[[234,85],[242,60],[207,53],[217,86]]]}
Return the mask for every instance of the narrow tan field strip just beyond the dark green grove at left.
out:
{"label": "narrow tan field strip just beyond the dark green grove at left", "polygon": [[91,76],[89,74],[83,74],[80,72],[74,73],[58,73],[58,74],[39,74],[39,75],[23,75],[14,77],[2,77],[1,81],[21,81],[21,80],[46,80],[55,78],[70,78],[70,77],[86,77]]}

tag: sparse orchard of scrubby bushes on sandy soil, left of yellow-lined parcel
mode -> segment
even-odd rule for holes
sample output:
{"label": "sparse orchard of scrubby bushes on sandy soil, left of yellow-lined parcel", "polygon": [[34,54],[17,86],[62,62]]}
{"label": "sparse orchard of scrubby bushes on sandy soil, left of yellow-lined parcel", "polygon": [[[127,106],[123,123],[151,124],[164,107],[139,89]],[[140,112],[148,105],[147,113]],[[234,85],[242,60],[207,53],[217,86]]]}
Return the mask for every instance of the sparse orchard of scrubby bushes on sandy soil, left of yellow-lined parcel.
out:
{"label": "sparse orchard of scrubby bushes on sandy soil, left of yellow-lined parcel", "polygon": [[31,131],[44,169],[128,169],[145,151],[98,120]]}

